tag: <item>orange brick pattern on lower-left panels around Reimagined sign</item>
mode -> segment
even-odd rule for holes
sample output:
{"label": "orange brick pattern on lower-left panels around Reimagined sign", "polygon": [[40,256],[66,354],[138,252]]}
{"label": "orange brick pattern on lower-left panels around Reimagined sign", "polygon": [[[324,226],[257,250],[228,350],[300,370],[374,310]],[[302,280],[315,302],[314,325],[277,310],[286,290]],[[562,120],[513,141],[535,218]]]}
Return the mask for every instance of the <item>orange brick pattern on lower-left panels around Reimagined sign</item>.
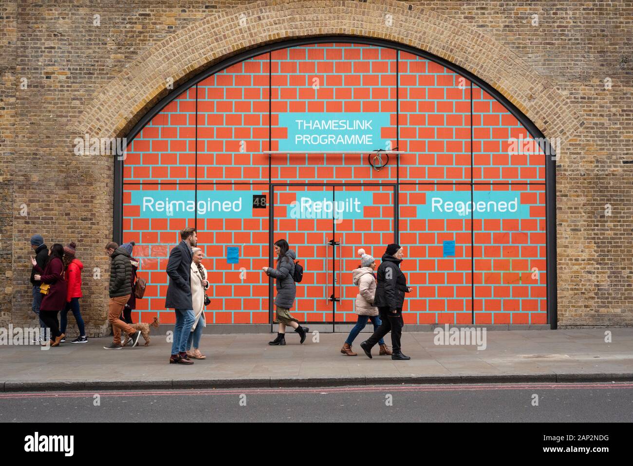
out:
{"label": "orange brick pattern on lower-left panels around Reimagined sign", "polygon": [[[187,191],[195,199],[192,184],[127,184],[123,192],[125,230],[123,241],[135,241],[135,258],[141,261],[139,275],[147,279],[146,293],[137,302],[143,322],[158,316],[174,323],[174,313],[165,312],[168,277],[165,272],[170,250],[180,241],[179,230],[196,225],[198,246],[208,272],[211,303],[206,322],[213,324],[261,324],[268,322],[268,278],[261,267],[268,265],[268,208],[246,206],[251,218],[141,218],[138,205],[131,205],[133,191]],[[208,191],[251,191],[267,194],[268,185],[197,184],[199,193]],[[227,248],[239,249],[239,263],[229,263]]]}

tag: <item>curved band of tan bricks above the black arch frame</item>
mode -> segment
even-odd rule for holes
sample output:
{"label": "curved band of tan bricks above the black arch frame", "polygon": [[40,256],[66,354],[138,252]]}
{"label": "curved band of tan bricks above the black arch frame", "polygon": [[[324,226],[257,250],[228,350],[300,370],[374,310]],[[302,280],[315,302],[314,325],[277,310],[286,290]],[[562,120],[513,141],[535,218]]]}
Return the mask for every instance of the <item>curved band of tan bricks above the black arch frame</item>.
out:
{"label": "curved band of tan bricks above the black arch frame", "polygon": [[565,141],[580,127],[578,113],[547,79],[477,29],[398,1],[331,0],[267,0],[211,15],[137,58],[97,94],[75,127],[94,137],[125,135],[168,93],[168,79],[176,87],[246,49],[336,34],[394,41],[451,61],[491,84],[549,138]]}

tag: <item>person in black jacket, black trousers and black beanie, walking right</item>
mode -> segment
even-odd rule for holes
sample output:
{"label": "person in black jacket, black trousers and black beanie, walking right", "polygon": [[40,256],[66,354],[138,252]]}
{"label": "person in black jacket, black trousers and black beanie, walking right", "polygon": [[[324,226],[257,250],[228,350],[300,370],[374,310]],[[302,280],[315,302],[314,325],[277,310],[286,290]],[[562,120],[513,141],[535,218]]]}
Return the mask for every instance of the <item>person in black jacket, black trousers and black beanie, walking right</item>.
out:
{"label": "person in black jacket, black trousers and black beanie, walking right", "polygon": [[391,331],[391,344],[393,354],[391,359],[409,360],[400,349],[400,336],[402,335],[402,305],[404,293],[411,293],[411,288],[406,286],[406,277],[400,270],[400,263],[404,257],[404,250],[399,244],[389,244],[387,251],[382,255],[382,262],[377,270],[378,284],[373,305],[378,307],[382,324],[373,332],[367,340],[360,344],[368,358],[372,358],[372,348],[378,341]]}

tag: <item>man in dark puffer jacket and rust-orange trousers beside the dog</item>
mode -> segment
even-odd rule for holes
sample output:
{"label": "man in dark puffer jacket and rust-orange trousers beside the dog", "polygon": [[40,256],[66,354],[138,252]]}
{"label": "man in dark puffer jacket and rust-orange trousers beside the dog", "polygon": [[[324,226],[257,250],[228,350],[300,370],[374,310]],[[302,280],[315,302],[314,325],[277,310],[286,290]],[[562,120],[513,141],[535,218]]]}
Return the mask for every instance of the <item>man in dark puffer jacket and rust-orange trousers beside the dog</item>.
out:
{"label": "man in dark puffer jacket and rust-orange trousers beside the dog", "polygon": [[112,324],[112,332],[114,341],[110,346],[104,346],[104,349],[121,349],[121,331],[128,334],[132,339],[132,346],[139,343],[140,331],[134,330],[133,327],[119,319],[125,303],[130,299],[132,294],[132,263],[130,262],[130,254],[123,248],[120,248],[116,242],[106,244],[106,252],[110,256],[110,303],[108,303],[108,322]]}

